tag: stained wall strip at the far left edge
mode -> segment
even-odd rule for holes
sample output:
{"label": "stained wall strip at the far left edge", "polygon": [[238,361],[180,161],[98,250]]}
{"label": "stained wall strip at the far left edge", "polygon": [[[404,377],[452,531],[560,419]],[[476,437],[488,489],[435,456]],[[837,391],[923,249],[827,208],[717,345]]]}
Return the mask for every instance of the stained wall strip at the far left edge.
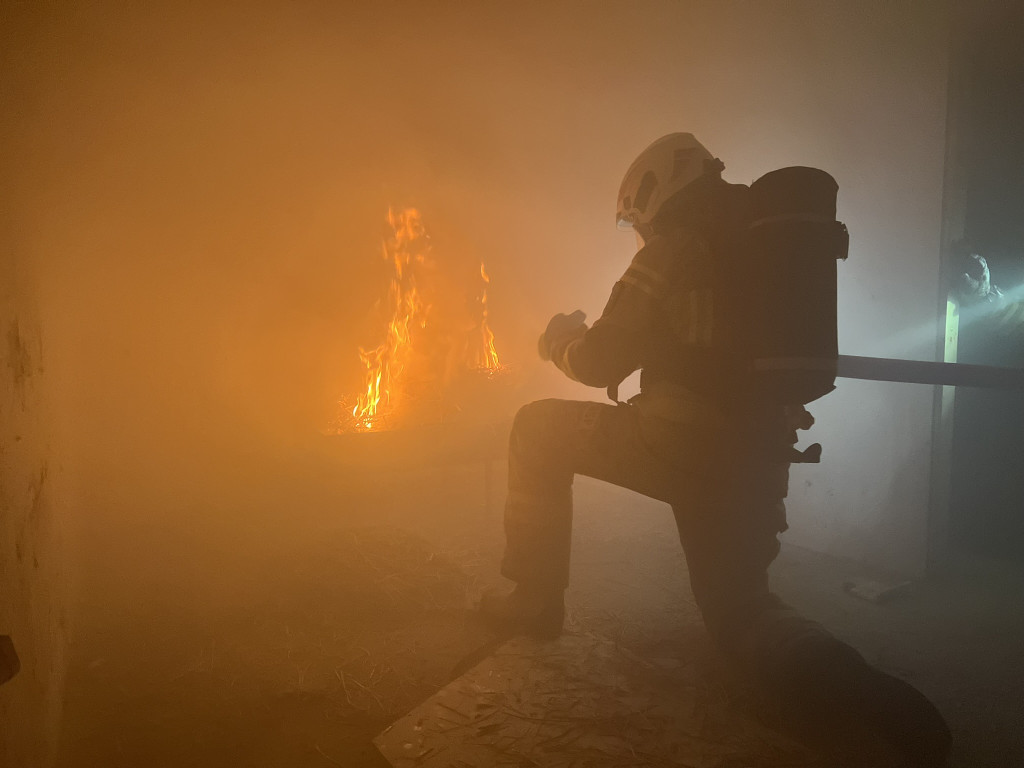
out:
{"label": "stained wall strip at the far left edge", "polygon": [[16,258],[0,260],[0,634],[22,670],[0,687],[0,765],[40,768],[61,711],[65,521],[35,291]]}

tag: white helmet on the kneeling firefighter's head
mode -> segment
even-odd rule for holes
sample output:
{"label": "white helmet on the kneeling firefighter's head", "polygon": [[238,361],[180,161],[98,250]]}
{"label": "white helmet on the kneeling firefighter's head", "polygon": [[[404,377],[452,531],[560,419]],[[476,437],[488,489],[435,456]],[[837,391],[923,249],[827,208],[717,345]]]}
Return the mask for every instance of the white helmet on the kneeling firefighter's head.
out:
{"label": "white helmet on the kneeling firefighter's head", "polygon": [[692,133],[662,136],[626,171],[615,224],[621,229],[649,224],[669,198],[703,175],[706,160],[715,158]]}

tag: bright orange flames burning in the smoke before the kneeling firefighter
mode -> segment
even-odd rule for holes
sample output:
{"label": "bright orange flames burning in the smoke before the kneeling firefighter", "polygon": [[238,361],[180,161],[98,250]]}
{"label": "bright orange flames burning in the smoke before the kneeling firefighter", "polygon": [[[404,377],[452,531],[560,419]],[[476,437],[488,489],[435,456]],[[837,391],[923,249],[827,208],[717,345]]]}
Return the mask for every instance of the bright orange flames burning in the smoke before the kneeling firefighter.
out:
{"label": "bright orange flames burning in the smoke before the kneeling firefighter", "polygon": [[359,349],[366,366],[362,391],[342,431],[376,431],[396,426],[399,412],[443,415],[449,385],[467,371],[502,371],[495,335],[487,324],[490,282],[480,263],[479,278],[459,280],[433,256],[423,220],[414,208],[388,211],[390,233],[382,254],[393,273],[385,298],[389,317],[384,340]]}

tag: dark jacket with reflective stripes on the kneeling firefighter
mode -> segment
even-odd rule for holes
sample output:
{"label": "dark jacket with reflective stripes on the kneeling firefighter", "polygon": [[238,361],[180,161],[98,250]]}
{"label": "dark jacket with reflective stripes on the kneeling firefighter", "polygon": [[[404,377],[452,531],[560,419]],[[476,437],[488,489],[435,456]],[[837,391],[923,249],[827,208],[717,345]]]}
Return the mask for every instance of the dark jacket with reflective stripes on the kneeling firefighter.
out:
{"label": "dark jacket with reflective stripes on the kneeling firefighter", "polygon": [[[742,213],[736,206],[727,210]],[[712,346],[715,259],[736,247],[735,222],[723,216],[714,227],[680,226],[651,237],[612,287],[601,316],[557,342],[551,359],[570,379],[609,388],[616,400],[617,385],[640,370],[638,404],[645,414],[696,419],[737,443],[790,461],[796,429],[813,419],[803,408],[744,393]]]}

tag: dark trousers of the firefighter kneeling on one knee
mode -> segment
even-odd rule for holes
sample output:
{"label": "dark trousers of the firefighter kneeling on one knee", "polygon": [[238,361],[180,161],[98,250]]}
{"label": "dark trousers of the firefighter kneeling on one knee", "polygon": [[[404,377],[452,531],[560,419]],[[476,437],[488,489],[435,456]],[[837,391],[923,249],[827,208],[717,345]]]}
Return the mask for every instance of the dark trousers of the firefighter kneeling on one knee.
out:
{"label": "dark trousers of the firefighter kneeling on one knee", "polygon": [[622,403],[524,406],[509,442],[503,575],[567,586],[572,480],[587,475],[671,504],[709,634],[740,668],[774,685],[805,665],[809,647],[859,658],[770,592],[788,464],[745,451],[737,434],[699,408],[670,420]]}

